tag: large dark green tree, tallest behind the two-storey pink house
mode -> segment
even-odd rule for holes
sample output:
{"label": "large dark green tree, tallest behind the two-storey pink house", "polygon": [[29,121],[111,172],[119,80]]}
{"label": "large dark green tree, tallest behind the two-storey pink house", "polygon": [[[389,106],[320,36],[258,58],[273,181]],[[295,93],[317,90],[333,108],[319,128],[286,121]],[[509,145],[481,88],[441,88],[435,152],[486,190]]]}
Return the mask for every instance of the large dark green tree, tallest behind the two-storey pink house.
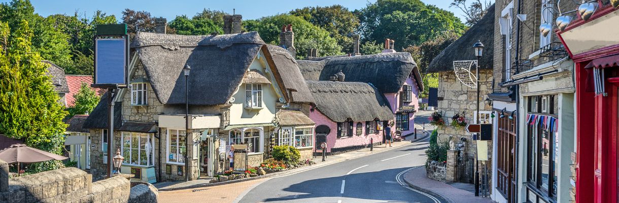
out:
{"label": "large dark green tree, tallest behind the two-storey pink house", "polygon": [[419,45],[445,31],[461,34],[465,25],[451,12],[419,0],[378,0],[355,11],[365,41],[396,41],[396,50]]}

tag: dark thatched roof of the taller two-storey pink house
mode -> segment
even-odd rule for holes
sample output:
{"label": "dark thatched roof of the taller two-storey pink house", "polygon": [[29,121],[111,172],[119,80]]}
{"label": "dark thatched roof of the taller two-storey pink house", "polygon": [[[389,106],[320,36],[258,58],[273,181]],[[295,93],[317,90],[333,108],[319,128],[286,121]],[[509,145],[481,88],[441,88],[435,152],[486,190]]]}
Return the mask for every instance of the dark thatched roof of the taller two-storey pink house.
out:
{"label": "dark thatched roof of the taller two-storey pink house", "polygon": [[342,71],[347,82],[371,83],[383,93],[396,93],[413,74],[417,87],[423,90],[422,78],[410,53],[381,53],[350,57],[298,60],[306,80],[329,80]]}

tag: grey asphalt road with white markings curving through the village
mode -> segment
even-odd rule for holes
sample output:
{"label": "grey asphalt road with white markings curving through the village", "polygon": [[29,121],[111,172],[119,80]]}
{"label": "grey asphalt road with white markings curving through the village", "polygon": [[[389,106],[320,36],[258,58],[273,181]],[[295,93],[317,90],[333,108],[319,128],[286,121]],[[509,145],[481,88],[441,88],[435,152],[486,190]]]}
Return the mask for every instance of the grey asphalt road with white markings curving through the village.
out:
{"label": "grey asphalt road with white markings curving through the village", "polygon": [[402,182],[403,171],[425,163],[427,140],[272,178],[254,186],[239,202],[446,202]]}

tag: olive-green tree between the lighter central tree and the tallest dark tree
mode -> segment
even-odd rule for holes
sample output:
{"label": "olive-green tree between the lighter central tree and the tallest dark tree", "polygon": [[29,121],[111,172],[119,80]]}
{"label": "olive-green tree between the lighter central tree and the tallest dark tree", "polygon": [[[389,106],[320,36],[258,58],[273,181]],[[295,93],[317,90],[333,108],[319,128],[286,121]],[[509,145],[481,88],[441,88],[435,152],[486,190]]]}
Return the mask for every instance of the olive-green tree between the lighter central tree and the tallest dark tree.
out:
{"label": "olive-green tree between the lighter central tree and the tallest dark tree", "polygon": [[352,35],[359,27],[359,19],[346,7],[337,4],[326,7],[304,7],[290,11],[290,14],[327,30],[329,36],[344,48],[342,51],[352,53]]}

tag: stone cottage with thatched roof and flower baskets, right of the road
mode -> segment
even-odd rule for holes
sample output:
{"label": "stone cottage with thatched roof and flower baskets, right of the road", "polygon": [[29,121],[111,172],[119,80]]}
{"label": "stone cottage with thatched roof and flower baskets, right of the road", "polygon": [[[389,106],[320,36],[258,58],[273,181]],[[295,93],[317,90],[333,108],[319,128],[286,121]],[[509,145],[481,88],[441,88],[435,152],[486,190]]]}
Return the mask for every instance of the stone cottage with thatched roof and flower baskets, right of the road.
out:
{"label": "stone cottage with thatched roof and flower baskets, right of the road", "polygon": [[[459,114],[464,116],[467,123],[475,123],[476,116],[480,116],[481,123],[491,123],[492,108],[485,102],[485,98],[492,90],[494,13],[495,7],[491,6],[488,14],[469,28],[462,37],[441,51],[428,66],[428,72],[438,72],[439,75],[436,111],[442,114],[444,125],[436,129],[438,142],[444,144],[452,140],[457,145],[462,144],[458,149],[452,150],[451,155],[448,153],[448,157],[453,157],[453,160],[448,160],[447,181],[473,183],[475,160],[477,160],[475,156],[477,141],[472,140],[472,134],[467,133],[464,127],[452,126],[450,124],[452,117]],[[477,110],[475,63],[470,63],[470,61],[477,60],[473,49],[473,44],[477,41],[485,45],[483,56],[478,62],[480,68],[480,112],[478,114],[475,113]],[[464,69],[459,66],[460,69],[454,69],[454,61],[469,62],[463,66]],[[491,143],[488,145],[491,146]],[[491,147],[488,149],[490,153]],[[481,170],[483,170],[483,163],[479,165]],[[490,162],[488,162],[488,171],[489,164]]]}

